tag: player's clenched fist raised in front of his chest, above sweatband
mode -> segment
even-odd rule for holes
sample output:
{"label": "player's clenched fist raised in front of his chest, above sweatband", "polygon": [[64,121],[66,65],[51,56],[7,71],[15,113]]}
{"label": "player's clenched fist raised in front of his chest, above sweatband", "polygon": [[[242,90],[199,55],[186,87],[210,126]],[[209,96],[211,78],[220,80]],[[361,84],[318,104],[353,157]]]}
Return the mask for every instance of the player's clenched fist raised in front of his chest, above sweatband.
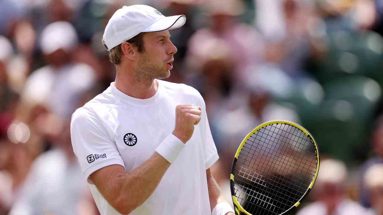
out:
{"label": "player's clenched fist raised in front of his chest, above sweatband", "polygon": [[173,133],[183,143],[193,135],[194,125],[201,120],[201,107],[193,104],[177,105],[175,108],[175,129]]}

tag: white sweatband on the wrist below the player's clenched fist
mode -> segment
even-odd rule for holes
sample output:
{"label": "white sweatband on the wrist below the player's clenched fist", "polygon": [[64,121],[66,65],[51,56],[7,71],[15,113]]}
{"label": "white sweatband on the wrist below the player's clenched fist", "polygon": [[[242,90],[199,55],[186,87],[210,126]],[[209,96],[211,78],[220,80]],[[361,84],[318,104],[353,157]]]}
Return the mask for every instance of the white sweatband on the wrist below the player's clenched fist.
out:
{"label": "white sweatband on the wrist below the player's clenched fist", "polygon": [[185,144],[178,137],[174,134],[169,134],[155,151],[169,161],[169,163],[173,163],[183,147],[185,147]]}

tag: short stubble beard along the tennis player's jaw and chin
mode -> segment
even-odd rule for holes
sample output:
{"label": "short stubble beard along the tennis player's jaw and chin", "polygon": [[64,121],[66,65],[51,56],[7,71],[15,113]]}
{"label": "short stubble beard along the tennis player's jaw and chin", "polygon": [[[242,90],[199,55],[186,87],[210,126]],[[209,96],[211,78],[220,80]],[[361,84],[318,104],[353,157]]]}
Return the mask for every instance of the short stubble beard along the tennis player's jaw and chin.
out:
{"label": "short stubble beard along the tennis player's jaw and chin", "polygon": [[169,78],[169,76],[169,70],[152,64],[145,53],[139,60],[139,66],[134,69],[134,77],[137,81],[153,81],[154,79]]}

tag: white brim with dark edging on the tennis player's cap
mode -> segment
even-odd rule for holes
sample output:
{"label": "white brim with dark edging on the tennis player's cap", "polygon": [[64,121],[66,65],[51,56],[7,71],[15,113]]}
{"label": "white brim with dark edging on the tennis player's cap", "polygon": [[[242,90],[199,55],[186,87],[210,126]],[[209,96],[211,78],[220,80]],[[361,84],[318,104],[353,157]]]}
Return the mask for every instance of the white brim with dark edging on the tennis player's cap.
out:
{"label": "white brim with dark edging on the tennis player's cap", "polygon": [[182,27],[186,22],[185,15],[167,16],[154,22],[141,32],[165,31]]}

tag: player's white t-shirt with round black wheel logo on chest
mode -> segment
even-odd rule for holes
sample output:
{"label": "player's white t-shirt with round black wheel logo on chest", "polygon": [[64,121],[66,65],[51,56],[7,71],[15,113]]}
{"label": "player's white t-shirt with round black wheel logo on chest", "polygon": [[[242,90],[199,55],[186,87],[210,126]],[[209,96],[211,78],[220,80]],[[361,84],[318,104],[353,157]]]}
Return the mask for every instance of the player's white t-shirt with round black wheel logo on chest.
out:
{"label": "player's white t-shirt with round black wheel logo on chest", "polygon": [[[194,88],[157,80],[157,93],[137,99],[114,83],[72,115],[72,145],[101,215],[119,213],[93,185],[90,174],[108,165],[124,166],[127,173],[148,160],[175,127],[178,104],[201,106],[201,121],[177,159],[167,169],[153,194],[131,215],[211,214],[206,169],[217,160],[205,102]],[[131,137],[130,142],[126,141]],[[126,143],[125,143],[126,142]]]}

